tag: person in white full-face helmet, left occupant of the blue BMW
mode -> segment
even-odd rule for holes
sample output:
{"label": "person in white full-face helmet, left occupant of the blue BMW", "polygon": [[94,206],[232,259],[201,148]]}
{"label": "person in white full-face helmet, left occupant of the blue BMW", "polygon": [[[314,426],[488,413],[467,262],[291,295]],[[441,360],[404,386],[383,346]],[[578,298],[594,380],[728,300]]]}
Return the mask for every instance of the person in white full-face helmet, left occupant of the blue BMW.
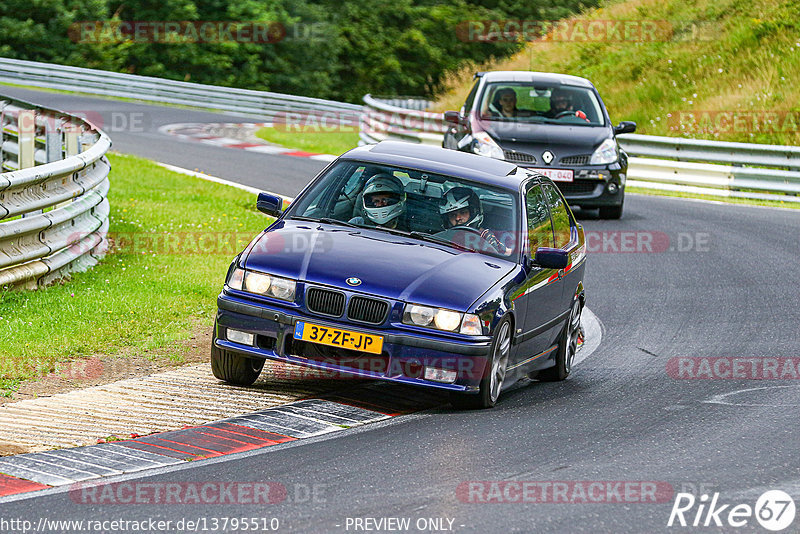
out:
{"label": "person in white full-face helmet, left occupant of the blue BMW", "polygon": [[406,191],[396,176],[378,173],[364,184],[361,196],[363,217],[353,217],[353,224],[404,229]]}

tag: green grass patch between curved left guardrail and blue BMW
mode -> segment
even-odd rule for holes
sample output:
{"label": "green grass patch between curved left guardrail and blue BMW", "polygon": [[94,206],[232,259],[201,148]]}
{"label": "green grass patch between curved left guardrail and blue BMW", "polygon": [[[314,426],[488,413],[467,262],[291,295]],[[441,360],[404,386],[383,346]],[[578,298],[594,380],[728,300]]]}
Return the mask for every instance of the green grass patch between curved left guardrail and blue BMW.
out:
{"label": "green grass patch between curved left guardrail and blue BMW", "polygon": [[249,193],[132,156],[109,160],[117,251],[65,284],[0,289],[0,394],[79,357],[147,349],[180,360],[176,342],[211,327],[230,261],[270,222]]}

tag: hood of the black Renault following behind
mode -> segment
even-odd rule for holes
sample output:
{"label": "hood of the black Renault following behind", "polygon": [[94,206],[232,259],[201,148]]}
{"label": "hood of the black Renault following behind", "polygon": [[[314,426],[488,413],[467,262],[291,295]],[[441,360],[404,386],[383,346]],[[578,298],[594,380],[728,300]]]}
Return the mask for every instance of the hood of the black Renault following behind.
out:
{"label": "hood of the black Renault following behind", "polygon": [[481,121],[481,126],[505,149],[534,153],[549,149],[557,156],[591,154],[600,143],[612,137],[612,131],[607,126],[501,121]]}

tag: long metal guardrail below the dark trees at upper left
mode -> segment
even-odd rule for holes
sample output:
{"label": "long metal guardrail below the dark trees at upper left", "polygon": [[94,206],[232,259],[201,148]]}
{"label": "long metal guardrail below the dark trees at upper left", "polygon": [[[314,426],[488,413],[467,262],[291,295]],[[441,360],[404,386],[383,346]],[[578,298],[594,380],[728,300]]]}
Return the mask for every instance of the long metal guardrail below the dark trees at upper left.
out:
{"label": "long metal guardrail below the dark trees at upper left", "polygon": [[149,76],[0,58],[0,81],[79,93],[234,111],[258,118],[285,112],[329,112],[358,118],[361,106],[321,98],[178,82]]}

